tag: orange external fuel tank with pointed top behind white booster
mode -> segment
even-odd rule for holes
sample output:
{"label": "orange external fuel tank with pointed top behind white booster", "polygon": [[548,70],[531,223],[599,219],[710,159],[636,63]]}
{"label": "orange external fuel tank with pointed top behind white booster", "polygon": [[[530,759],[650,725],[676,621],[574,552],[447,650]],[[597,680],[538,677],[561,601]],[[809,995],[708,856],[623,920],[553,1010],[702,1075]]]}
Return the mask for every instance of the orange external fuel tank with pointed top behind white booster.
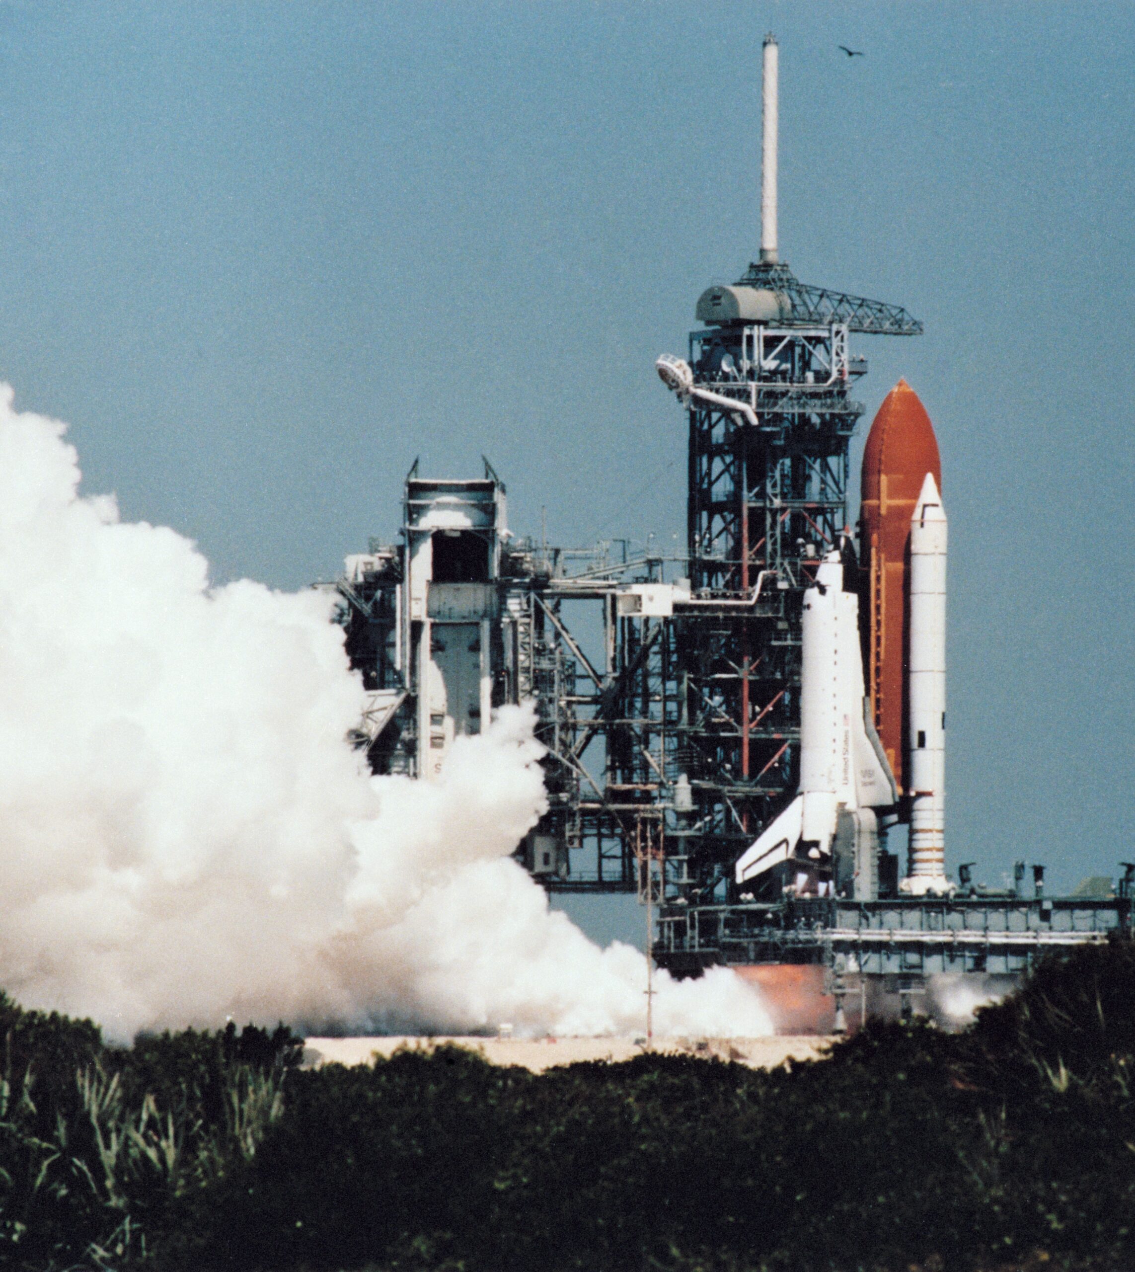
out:
{"label": "orange external fuel tank with pointed top behind white booster", "polygon": [[905,794],[906,572],[910,519],[927,473],[942,488],[938,439],[927,408],[906,383],[883,398],[863,450],[859,631],[867,693],[883,750]]}

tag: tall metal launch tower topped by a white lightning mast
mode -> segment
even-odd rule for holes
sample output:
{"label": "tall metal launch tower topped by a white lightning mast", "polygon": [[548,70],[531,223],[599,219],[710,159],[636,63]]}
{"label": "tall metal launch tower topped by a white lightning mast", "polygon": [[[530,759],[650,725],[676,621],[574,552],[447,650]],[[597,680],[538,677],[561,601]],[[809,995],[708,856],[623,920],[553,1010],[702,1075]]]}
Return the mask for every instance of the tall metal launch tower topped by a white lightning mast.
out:
{"label": "tall metal launch tower topped by a white lightning mast", "polygon": [[697,880],[689,904],[735,899],[732,864],[796,791],[802,597],[848,525],[848,448],[863,413],[852,388],[867,365],[849,336],[923,329],[899,305],[802,284],[779,259],[777,81],[769,36],[760,259],[702,294],[689,361],[658,365],[689,412],[690,583],[719,602],[672,628],[694,804],[676,832]]}

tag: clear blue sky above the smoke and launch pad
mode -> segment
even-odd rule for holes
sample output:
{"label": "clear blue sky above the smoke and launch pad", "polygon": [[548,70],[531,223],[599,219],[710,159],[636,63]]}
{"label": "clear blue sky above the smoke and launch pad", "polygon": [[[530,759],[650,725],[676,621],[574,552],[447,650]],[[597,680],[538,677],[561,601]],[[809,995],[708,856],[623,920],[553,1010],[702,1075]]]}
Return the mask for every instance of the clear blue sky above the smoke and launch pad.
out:
{"label": "clear blue sky above the smoke and launch pad", "polygon": [[653,360],[755,251],[768,29],[782,256],[925,323],[857,351],[942,448],[949,862],[1113,874],[1135,5],[3,4],[0,377],[217,580],[332,576],[416,455],[672,542]]}

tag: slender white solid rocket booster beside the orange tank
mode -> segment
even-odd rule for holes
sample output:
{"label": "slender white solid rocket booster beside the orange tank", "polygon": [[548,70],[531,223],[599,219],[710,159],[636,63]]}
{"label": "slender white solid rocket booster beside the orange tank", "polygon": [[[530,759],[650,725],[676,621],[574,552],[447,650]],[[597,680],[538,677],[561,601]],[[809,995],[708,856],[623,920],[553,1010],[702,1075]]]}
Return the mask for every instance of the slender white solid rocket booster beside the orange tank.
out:
{"label": "slender white solid rocket booster beside the orange tank", "polygon": [[927,473],[910,522],[910,870],[901,889],[921,895],[946,878],[946,509]]}

